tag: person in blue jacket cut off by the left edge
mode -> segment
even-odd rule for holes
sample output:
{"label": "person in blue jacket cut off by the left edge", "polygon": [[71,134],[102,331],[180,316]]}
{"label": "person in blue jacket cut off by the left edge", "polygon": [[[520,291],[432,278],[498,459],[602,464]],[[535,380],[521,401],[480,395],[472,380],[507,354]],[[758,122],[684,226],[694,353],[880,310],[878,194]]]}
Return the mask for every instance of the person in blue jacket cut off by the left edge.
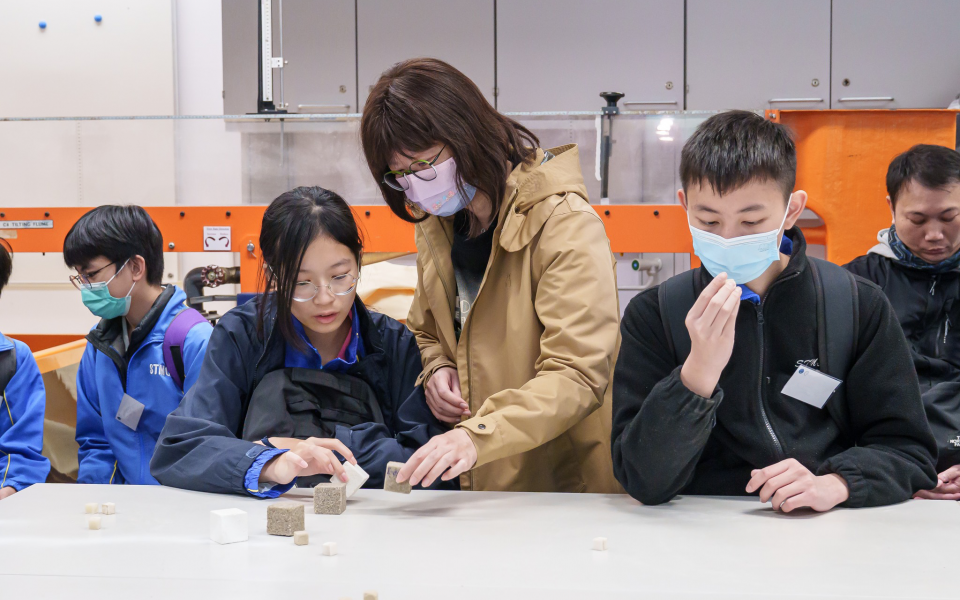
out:
{"label": "person in blue jacket cut off by the left edge", "polygon": [[[13,261],[0,240],[0,292],[10,280]],[[0,333],[0,500],[50,472],[41,456],[46,392],[30,348]]]}

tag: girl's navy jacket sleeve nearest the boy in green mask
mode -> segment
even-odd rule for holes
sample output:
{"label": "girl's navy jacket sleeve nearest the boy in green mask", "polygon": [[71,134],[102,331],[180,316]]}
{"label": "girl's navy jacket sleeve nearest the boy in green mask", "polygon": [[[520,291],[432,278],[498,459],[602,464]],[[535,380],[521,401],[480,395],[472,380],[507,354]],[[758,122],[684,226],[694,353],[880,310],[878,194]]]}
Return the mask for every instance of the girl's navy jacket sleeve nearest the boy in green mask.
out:
{"label": "girl's navy jacket sleeve nearest the boy in green mask", "polygon": [[238,318],[231,311],[214,327],[197,383],[164,423],[150,461],[150,473],[163,485],[244,494],[247,470],[267,450],[234,433],[243,424],[256,364],[243,351],[251,339]]}

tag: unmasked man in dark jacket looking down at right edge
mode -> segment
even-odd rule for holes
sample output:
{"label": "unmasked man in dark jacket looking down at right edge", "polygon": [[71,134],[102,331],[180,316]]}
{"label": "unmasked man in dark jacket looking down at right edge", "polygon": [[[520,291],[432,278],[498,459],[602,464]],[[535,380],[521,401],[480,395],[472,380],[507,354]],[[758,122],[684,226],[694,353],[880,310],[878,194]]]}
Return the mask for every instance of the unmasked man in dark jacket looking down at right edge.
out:
{"label": "unmasked man in dark jacket looking down at right edge", "polygon": [[937,488],[960,500],[960,153],[918,145],[887,170],[893,224],[846,268],[883,289],[897,313],[939,450]]}

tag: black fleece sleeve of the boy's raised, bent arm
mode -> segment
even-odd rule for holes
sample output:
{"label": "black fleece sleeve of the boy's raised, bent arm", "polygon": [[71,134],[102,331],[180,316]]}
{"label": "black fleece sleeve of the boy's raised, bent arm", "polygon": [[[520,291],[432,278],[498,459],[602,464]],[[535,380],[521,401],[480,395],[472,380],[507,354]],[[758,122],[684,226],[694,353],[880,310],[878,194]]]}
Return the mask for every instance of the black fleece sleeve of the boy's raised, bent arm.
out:
{"label": "black fleece sleeve of the boy's raised, bent arm", "polygon": [[716,423],[719,388],[703,398],[680,381],[660,320],[657,288],[627,306],[613,375],[613,469],[644,504],[669,501],[693,479]]}

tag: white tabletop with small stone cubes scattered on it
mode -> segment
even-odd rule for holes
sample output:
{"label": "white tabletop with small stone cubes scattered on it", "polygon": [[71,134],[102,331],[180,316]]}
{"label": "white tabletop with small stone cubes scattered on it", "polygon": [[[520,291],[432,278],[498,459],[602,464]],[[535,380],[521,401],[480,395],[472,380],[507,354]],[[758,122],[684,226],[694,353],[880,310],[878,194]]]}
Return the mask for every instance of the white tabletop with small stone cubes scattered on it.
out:
{"label": "white tabletop with small stone cubes scattered on it", "polygon": [[[279,500],[33,486],[0,501],[0,598],[960,598],[957,502],[788,516],[756,499],[361,490],[327,516],[308,490],[284,499],[304,503],[310,545],[267,535]],[[116,515],[91,531],[87,502]],[[247,511],[248,542],[209,539],[221,508]]]}

